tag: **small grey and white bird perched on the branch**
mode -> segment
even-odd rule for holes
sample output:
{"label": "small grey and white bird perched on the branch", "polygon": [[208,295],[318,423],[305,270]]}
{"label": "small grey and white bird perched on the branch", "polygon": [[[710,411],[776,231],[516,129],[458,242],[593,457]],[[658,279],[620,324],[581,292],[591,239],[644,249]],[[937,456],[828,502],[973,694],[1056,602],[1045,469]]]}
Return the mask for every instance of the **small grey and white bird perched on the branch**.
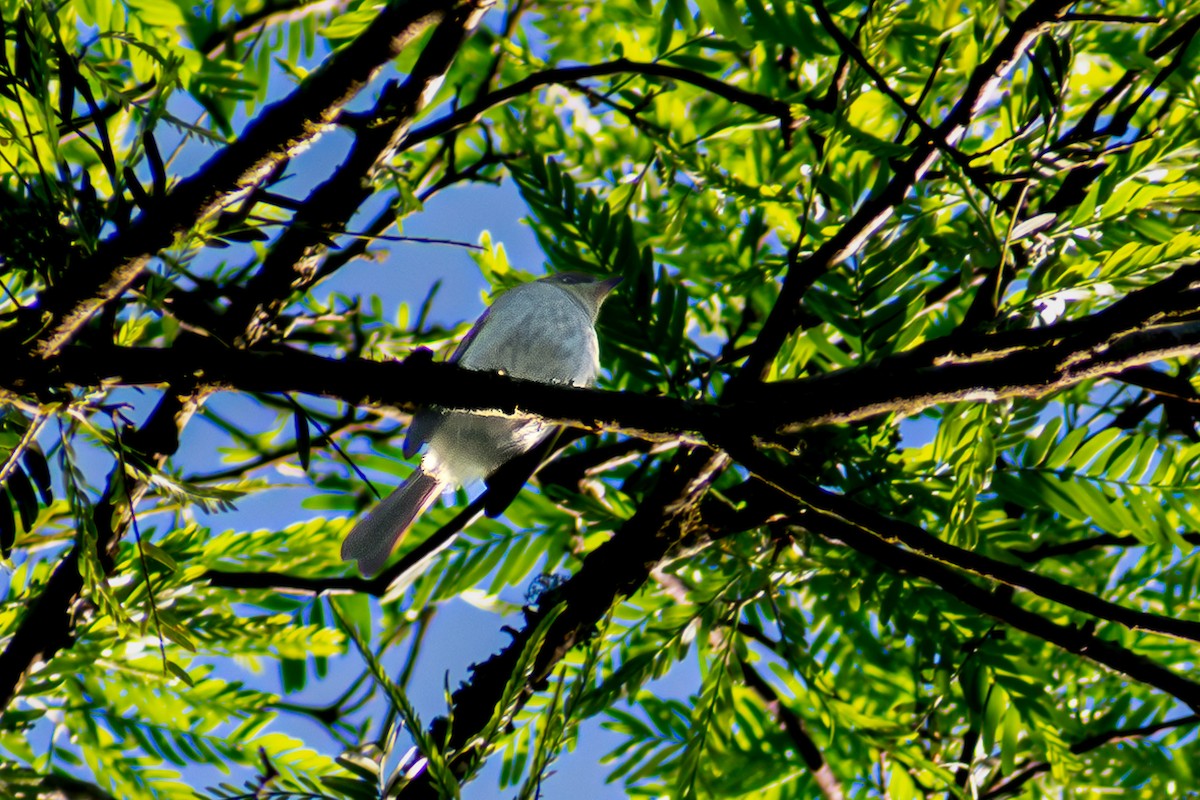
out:
{"label": "small grey and white bird perched on the branch", "polygon": [[[619,282],[620,277],[560,272],[514,287],[475,320],[450,361],[544,384],[590,386],[600,372],[596,317]],[[376,575],[446,487],[491,476],[553,429],[538,417],[420,409],[403,446],[410,458],[428,445],[420,465],[350,529],[342,560],[358,561],[364,576]]]}

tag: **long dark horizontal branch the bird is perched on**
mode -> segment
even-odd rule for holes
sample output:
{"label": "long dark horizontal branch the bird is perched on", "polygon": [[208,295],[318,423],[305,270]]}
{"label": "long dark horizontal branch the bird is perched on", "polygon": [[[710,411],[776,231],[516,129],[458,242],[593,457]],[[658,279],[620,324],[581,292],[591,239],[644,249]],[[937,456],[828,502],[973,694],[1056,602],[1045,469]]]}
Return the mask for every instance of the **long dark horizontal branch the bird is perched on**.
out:
{"label": "long dark horizontal branch the bird is perched on", "polygon": [[[547,386],[434,363],[427,351],[383,363],[288,349],[230,350],[203,339],[180,339],[170,349],[72,347],[48,366],[38,361],[8,365],[0,372],[0,389],[28,393],[65,384],[158,385],[190,374],[217,390],[301,392],[406,411],[428,404],[506,415],[520,409],[566,425],[661,439],[733,432],[774,435],[880,414],[916,414],[943,403],[1049,397],[1132,366],[1200,354],[1200,323],[1135,330],[1102,345],[1075,337],[1061,339],[1060,332],[1055,326],[985,337],[984,345],[971,351],[934,342],[940,349],[763,384],[754,395],[724,405]],[[1045,344],[1033,344],[1039,341]]]}

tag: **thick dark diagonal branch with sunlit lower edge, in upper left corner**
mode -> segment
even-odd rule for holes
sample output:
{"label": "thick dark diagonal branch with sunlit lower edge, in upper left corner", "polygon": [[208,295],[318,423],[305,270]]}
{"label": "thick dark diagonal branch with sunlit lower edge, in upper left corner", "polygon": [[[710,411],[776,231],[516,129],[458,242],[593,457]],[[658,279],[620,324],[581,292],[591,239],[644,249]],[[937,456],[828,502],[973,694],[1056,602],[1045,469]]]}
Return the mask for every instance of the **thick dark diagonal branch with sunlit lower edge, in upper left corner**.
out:
{"label": "thick dark diagonal branch with sunlit lower edge, in upper left corner", "polygon": [[73,279],[48,291],[41,302],[43,329],[30,349],[41,357],[61,350],[96,311],[137,279],[155,253],[310,145],[385,64],[460,5],[458,0],[385,5],[366,31],[331,55],[301,88],[266,107],[235,143],[106,240],[72,271]]}

